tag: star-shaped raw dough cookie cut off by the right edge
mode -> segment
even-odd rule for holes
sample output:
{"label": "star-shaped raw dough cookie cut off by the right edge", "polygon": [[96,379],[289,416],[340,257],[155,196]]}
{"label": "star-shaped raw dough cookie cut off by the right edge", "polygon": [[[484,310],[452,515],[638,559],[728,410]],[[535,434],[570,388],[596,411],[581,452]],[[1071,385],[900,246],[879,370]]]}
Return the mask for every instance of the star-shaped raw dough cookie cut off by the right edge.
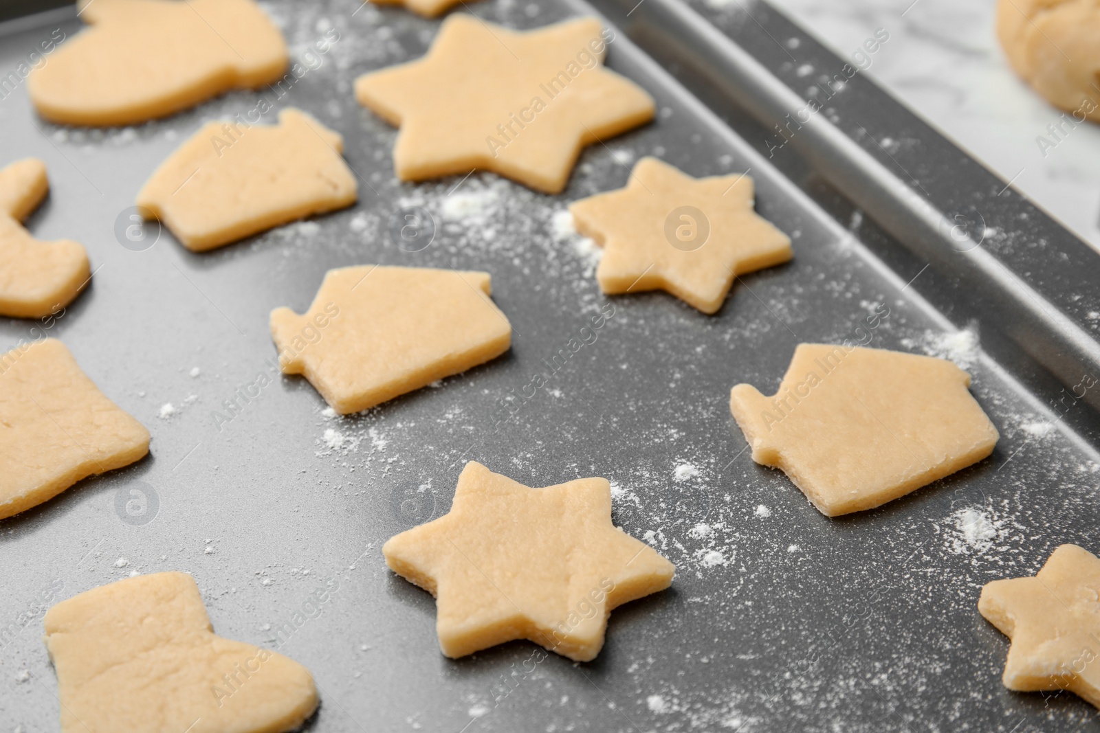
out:
{"label": "star-shaped raw dough cookie cut off by the right edge", "polygon": [[1012,640],[1004,686],[1069,690],[1100,708],[1100,559],[1062,545],[1034,578],[993,580],[978,611]]}

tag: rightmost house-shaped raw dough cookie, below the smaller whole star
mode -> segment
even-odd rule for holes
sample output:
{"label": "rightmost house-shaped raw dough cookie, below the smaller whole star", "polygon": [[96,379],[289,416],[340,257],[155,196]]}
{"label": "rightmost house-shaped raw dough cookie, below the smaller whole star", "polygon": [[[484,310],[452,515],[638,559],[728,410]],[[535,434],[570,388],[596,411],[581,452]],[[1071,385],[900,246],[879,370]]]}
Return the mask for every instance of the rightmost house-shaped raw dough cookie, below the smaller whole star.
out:
{"label": "rightmost house-shaped raw dough cookie, below the smaller whole star", "polygon": [[826,517],[872,509],[978,463],[997,429],[946,359],[800,344],[779,391],[737,385],[752,459],[781,468]]}

